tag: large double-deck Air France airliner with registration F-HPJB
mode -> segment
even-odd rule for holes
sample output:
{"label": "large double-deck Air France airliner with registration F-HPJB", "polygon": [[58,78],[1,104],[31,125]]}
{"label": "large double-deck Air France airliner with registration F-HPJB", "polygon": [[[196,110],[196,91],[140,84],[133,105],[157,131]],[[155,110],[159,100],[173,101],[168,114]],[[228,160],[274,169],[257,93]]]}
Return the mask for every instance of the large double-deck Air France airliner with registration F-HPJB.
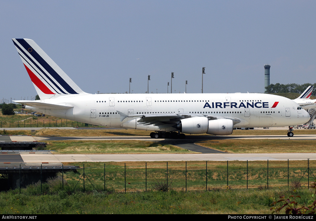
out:
{"label": "large double-deck Air France airliner with registration F-HPJB", "polygon": [[[12,39],[40,100],[26,109],[114,128],[151,130],[151,137],[228,135],[237,127],[294,126],[309,120],[294,101],[271,94],[89,94],[30,39]],[[293,136],[290,129],[288,136]]]}

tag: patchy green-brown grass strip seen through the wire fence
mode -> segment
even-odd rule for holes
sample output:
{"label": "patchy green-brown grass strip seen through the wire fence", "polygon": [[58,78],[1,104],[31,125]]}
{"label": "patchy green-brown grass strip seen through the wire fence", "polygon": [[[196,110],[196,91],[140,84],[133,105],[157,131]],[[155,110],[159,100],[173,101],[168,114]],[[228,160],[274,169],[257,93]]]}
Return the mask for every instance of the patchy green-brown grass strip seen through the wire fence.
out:
{"label": "patchy green-brown grass strip seen through the wire fence", "polygon": [[[85,163],[59,172],[46,188],[68,191],[309,188],[315,161],[187,161]],[[40,171],[37,171],[40,172]],[[20,171],[23,176],[23,170]],[[45,180],[38,181],[38,184]],[[34,181],[34,183],[37,181]],[[53,185],[49,187],[47,185]],[[41,185],[42,186],[42,185]],[[43,190],[40,190],[43,192]]]}

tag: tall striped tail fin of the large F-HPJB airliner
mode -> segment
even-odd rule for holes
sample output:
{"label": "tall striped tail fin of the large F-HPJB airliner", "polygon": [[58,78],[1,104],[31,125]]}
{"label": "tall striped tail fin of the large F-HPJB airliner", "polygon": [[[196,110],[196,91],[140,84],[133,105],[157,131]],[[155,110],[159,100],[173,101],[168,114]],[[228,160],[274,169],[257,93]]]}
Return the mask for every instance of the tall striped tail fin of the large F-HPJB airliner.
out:
{"label": "tall striped tail fin of the large F-HPJB airliner", "polygon": [[31,39],[12,39],[40,99],[87,94]]}

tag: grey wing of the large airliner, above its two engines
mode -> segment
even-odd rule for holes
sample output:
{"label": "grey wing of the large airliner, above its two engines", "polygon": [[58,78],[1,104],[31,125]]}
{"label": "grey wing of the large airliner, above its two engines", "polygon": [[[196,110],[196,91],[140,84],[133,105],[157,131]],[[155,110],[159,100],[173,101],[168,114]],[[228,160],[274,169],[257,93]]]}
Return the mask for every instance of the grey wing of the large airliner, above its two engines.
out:
{"label": "grey wing of the large airliner, above its two engines", "polygon": [[121,117],[121,121],[123,121],[127,117],[139,117],[140,119],[137,120],[139,124],[143,125],[154,125],[160,126],[166,125],[169,127],[170,124],[176,124],[180,120],[190,117],[207,117],[209,120],[216,120],[216,119],[231,119],[234,124],[239,123],[239,118],[235,117],[225,117],[225,116],[213,116],[208,114],[194,114],[194,113],[160,113],[160,114],[133,114],[133,115],[126,115],[120,111],[117,111]]}

